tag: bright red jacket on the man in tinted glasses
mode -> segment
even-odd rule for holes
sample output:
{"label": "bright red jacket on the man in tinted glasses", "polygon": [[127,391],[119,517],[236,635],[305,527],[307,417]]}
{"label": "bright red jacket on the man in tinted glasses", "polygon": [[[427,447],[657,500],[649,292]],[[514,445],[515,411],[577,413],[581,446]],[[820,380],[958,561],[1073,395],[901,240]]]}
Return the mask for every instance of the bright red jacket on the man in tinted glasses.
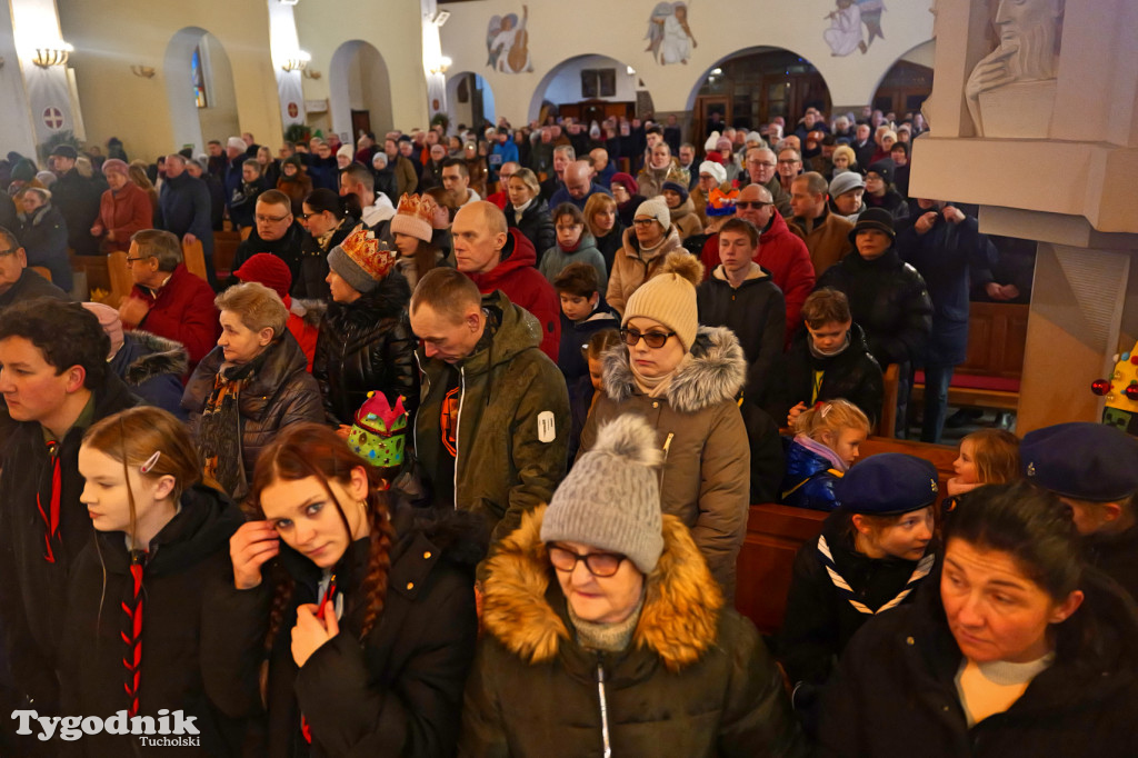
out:
{"label": "bright red jacket on the man in tinted glasses", "polygon": [[[814,290],[814,264],[806,242],[790,230],[781,214],[770,216],[770,226],[759,237],[759,253],[754,262],[770,272],[786,300],[786,345],[802,321],[802,303]],[[719,234],[711,234],[700,253],[703,280],[719,265]]]}

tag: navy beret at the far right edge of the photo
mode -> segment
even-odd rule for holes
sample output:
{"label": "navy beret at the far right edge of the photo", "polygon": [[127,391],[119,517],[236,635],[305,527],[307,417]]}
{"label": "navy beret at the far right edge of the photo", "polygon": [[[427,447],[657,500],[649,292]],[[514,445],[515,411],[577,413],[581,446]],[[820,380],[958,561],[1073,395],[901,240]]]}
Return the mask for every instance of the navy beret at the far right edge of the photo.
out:
{"label": "navy beret at the far right edge of the photo", "polygon": [[1056,495],[1122,501],[1138,492],[1138,439],[1089,421],[1030,431],[1020,444],[1023,475]]}

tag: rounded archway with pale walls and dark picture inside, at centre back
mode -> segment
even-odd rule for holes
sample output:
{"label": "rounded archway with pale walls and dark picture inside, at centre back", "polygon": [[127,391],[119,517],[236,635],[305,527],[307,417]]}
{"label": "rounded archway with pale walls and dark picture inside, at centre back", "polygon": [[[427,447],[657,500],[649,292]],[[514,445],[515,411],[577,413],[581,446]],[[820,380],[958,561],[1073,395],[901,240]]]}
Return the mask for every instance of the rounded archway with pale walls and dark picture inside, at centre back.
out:
{"label": "rounded archway with pale walls and dark picture inside, at centre back", "polygon": [[555,112],[585,123],[652,113],[652,96],[636,71],[616,58],[575,56],[546,72],[529,100],[529,121]]}

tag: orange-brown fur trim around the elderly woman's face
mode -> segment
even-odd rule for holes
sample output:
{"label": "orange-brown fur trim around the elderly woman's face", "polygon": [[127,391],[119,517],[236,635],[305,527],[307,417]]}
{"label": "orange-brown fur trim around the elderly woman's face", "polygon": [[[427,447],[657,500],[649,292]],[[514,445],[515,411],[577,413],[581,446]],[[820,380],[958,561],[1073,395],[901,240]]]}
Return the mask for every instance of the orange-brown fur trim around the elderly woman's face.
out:
{"label": "orange-brown fur trim around the elderly woman's face", "polygon": [[[552,660],[571,638],[566,618],[546,600],[552,569],[542,542],[546,505],[527,512],[487,561],[483,624],[529,664]],[[687,528],[663,517],[663,553],[646,578],[633,649],[660,657],[670,672],[696,662],[718,637],[723,593]]]}

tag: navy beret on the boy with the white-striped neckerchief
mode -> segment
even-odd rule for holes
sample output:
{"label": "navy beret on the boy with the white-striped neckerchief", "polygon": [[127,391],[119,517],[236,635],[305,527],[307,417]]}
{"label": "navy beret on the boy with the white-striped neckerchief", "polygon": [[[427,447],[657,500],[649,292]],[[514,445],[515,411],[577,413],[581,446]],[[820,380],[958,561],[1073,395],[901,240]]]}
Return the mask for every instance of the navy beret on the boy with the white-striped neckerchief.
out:
{"label": "navy beret on the boy with the white-striped neckerchief", "polygon": [[937,467],[916,455],[879,453],[847,471],[834,495],[850,513],[908,513],[937,502]]}

